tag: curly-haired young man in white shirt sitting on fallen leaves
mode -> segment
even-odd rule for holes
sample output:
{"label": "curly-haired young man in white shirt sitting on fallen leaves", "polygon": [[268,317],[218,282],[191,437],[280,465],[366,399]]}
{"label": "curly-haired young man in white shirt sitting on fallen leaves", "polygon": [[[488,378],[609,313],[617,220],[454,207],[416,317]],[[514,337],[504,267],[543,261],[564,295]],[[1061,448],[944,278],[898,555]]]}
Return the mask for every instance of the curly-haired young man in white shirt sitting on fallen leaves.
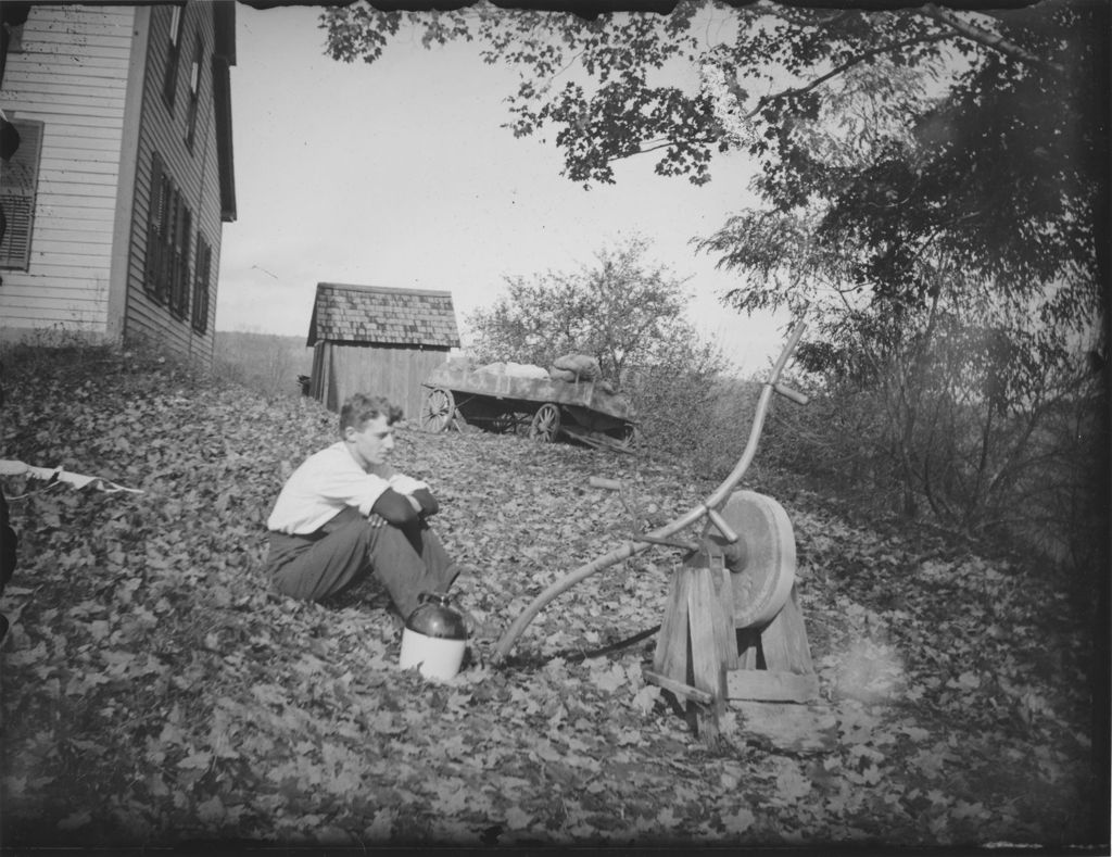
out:
{"label": "curly-haired young man in white shirt sitting on fallen leaves", "polygon": [[436,498],[386,462],[400,418],[386,399],[356,393],[340,409],[341,439],[290,475],[267,520],[279,591],[319,601],[374,574],[404,619],[420,592],[455,580],[459,567],[427,522]]}

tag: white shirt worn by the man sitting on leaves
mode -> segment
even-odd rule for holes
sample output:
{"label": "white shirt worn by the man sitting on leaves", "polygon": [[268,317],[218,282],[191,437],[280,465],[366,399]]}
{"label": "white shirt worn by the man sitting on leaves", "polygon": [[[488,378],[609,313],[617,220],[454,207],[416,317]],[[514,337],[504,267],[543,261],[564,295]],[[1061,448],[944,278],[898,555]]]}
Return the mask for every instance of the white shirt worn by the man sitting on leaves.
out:
{"label": "white shirt worn by the man sitting on leaves", "polygon": [[290,475],[267,519],[267,529],[306,536],[320,529],[346,506],[370,515],[370,507],[387,488],[411,495],[428,485],[396,472],[389,465],[379,465],[368,474],[344,441],[338,440],[314,452]]}

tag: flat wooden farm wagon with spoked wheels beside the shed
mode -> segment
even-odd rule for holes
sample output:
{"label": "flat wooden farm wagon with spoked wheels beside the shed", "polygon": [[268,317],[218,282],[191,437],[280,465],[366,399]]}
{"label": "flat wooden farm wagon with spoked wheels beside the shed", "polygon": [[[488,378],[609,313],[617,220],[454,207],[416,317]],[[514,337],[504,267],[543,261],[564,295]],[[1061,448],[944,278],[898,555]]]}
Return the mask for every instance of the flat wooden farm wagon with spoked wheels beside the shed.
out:
{"label": "flat wooden farm wagon with spoked wheels beside the shed", "polygon": [[542,442],[558,436],[627,451],[636,435],[633,406],[603,381],[524,378],[445,363],[425,379],[421,427],[444,431],[474,425],[515,431]]}

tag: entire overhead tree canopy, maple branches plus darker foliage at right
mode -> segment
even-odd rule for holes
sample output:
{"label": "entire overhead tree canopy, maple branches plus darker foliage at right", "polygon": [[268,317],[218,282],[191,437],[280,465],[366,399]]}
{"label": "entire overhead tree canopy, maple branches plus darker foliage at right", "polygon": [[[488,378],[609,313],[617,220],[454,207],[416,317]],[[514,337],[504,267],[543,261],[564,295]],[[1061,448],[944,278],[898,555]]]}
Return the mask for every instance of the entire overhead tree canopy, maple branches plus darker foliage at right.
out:
{"label": "entire overhead tree canopy, maple branches plus darker foliage at right", "polygon": [[[668,14],[595,17],[359,2],[328,10],[321,26],[328,52],[345,61],[374,62],[403,27],[426,47],[476,41],[486,62],[519,73],[508,127],[554,131],[575,181],[612,182],[615,161],[649,155],[658,173],[702,183],[715,152],[746,152],[766,207],[704,245],[756,275],[731,297],[738,309],[797,297],[768,289],[765,275],[813,275],[815,253],[840,287],[903,303],[930,299],[941,257],[1009,299],[1065,282],[1043,308],[1055,321],[1091,317],[1100,303],[1099,0],[976,12],[693,1]],[[801,223],[805,247],[782,235]]]}

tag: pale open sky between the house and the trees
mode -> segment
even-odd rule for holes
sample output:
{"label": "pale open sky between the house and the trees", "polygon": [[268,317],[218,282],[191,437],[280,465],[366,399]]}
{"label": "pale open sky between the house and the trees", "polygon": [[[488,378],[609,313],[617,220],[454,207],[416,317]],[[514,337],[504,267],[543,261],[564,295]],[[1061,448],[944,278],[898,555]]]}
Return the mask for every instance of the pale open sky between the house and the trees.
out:
{"label": "pale open sky between the house and the trees", "polygon": [[753,203],[745,156],[719,157],[702,188],[655,176],[646,156],[585,190],[559,175],[555,146],[499,127],[516,72],[474,47],[403,38],[346,64],[324,54],[317,9],[236,14],[238,219],[224,228],[219,330],[305,336],[316,283],[331,281],[451,291],[466,339],[505,276],[576,270],[639,235],[691,278],[691,320],[743,371],[778,350],[785,319],[724,308],[736,279],[688,243]]}

